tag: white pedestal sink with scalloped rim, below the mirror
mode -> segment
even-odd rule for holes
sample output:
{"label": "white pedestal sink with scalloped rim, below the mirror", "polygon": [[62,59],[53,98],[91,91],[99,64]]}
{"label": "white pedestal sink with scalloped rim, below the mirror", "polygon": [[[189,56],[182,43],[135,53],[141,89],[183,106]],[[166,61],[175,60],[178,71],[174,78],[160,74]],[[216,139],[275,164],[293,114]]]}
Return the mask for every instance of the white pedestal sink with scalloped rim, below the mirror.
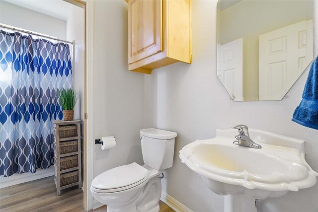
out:
{"label": "white pedestal sink with scalloped rim, below the mirror", "polygon": [[316,184],[318,173],[305,161],[304,141],[250,129],[250,138],[262,146],[256,149],[233,144],[237,134],[217,130],[216,138],[189,143],[179,155],[209,189],[226,195],[226,212],[256,211],[255,200]]}

